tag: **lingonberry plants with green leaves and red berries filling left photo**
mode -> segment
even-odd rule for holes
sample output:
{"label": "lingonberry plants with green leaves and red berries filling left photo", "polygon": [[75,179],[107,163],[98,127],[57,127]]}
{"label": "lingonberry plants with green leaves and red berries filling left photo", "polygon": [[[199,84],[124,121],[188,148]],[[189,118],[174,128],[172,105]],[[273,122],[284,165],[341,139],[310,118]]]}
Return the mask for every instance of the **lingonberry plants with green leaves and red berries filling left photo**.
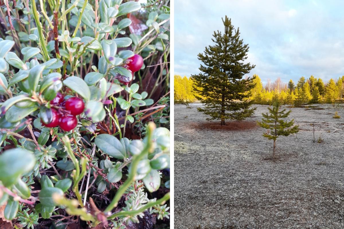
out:
{"label": "lingonberry plants with green leaves and red berries filling left photo", "polygon": [[0,2],[0,228],[169,225],[169,9]]}

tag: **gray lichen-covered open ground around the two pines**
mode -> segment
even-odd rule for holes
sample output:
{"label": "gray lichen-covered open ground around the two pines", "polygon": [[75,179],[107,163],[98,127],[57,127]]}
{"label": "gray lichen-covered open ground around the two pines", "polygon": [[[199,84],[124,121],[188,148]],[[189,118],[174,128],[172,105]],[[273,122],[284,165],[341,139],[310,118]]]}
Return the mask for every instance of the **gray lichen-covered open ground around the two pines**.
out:
{"label": "gray lichen-covered open ground around the two pines", "polygon": [[275,161],[255,125],[267,105],[227,127],[205,121],[197,106],[174,110],[175,228],[344,228],[343,105],[291,108],[300,131],[277,139]]}

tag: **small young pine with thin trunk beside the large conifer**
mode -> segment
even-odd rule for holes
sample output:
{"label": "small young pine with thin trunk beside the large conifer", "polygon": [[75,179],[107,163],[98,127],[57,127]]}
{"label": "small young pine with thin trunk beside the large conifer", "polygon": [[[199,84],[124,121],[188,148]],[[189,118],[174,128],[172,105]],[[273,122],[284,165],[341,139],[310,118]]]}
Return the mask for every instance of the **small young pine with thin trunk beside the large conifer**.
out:
{"label": "small young pine with thin trunk beside the large conifer", "polygon": [[268,129],[267,133],[263,136],[269,140],[273,140],[273,153],[272,158],[275,158],[276,140],[279,136],[289,136],[299,132],[299,126],[294,125],[294,119],[287,122],[284,118],[287,118],[291,112],[286,109],[280,110],[282,103],[279,100],[275,100],[272,104],[272,108],[268,107],[269,113],[262,113],[263,118],[261,122],[257,122],[259,126]]}

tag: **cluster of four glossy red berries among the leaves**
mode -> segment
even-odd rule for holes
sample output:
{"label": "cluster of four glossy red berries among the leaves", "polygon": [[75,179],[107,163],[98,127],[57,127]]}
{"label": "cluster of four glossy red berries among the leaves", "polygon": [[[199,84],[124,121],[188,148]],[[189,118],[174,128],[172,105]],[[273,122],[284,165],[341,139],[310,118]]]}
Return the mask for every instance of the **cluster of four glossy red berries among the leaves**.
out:
{"label": "cluster of four glossy red berries among the leaves", "polygon": [[52,121],[50,123],[44,123],[41,119],[42,124],[45,127],[60,126],[64,131],[70,131],[76,127],[78,123],[76,115],[83,113],[85,109],[85,104],[82,99],[72,97],[64,101],[64,96],[60,92],[50,101],[50,105],[52,106]]}

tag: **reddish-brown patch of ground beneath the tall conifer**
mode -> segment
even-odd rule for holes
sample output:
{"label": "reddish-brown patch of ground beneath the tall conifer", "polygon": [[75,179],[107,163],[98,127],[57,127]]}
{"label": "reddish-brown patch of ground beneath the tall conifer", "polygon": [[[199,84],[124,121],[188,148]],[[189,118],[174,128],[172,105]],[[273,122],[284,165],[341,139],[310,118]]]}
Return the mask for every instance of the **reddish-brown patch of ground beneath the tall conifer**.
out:
{"label": "reddish-brown patch of ground beneath the tall conifer", "polygon": [[212,130],[249,130],[257,127],[254,121],[227,121],[226,125],[220,125],[220,122],[202,122],[191,123],[190,126],[195,129],[212,129]]}

